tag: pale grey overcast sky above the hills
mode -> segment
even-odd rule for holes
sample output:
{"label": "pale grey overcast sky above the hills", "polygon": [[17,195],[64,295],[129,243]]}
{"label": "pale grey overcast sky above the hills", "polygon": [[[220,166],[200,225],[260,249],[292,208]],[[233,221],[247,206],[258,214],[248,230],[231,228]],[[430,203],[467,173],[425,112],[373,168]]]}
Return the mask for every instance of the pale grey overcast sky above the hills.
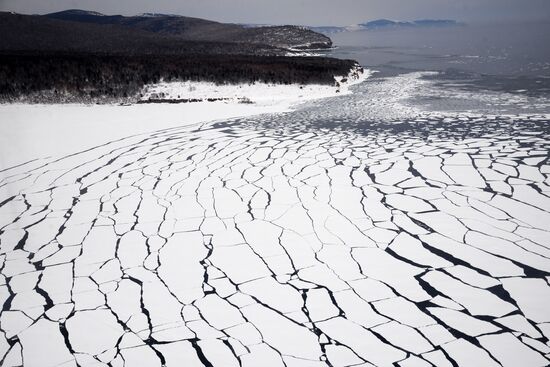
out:
{"label": "pale grey overcast sky above the hills", "polygon": [[0,10],[173,13],[235,23],[349,25],[378,18],[462,21],[550,19],[550,0],[0,0]]}

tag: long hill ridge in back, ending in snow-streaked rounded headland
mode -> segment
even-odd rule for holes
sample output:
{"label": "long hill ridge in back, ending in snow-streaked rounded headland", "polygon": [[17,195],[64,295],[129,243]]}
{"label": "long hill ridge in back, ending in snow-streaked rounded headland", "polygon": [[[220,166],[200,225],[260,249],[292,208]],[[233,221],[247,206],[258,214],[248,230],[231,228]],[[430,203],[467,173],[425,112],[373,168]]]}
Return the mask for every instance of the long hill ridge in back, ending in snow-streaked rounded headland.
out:
{"label": "long hill ridge in back, ending in snow-streaked rounded headland", "polygon": [[239,24],[171,14],[146,13],[137,16],[104,15],[71,9],[46,14],[43,17],[63,21],[116,25],[185,41],[262,44],[283,49],[330,48],[329,37],[305,27],[283,25],[246,27]]}

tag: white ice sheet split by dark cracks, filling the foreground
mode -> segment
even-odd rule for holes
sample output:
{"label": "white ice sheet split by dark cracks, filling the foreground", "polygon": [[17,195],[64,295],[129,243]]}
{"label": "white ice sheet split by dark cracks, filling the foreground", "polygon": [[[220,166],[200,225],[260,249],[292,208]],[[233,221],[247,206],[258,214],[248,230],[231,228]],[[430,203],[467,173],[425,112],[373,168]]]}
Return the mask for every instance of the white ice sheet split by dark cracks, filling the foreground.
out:
{"label": "white ice sheet split by dark cracks, filling the foreground", "polygon": [[549,116],[422,83],[191,125],[56,107],[49,157],[3,137],[0,364],[547,366]]}

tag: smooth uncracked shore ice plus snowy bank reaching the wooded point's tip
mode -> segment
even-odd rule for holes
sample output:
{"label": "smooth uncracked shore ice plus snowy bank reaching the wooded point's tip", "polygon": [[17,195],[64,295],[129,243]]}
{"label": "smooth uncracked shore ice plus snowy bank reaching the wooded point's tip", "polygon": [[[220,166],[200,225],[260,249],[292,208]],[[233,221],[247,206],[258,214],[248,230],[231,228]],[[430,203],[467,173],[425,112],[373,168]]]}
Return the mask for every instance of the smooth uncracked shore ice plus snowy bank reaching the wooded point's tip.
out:
{"label": "smooth uncracked shore ice plus snowy bank reaching the wooded point's tip", "polygon": [[[164,98],[186,92],[184,98],[204,99],[195,103],[131,105],[0,104],[0,170],[47,157],[59,157],[127,136],[247,117],[283,113],[315,99],[352,93],[350,86],[372,74],[365,70],[348,78],[340,88],[318,85],[226,85],[212,83],[161,83],[151,90],[166,91]],[[340,78],[341,82],[341,78]],[[189,87],[192,90],[189,91]],[[186,90],[179,88],[185,87]],[[337,92],[338,91],[338,92]],[[208,98],[228,100],[208,102]],[[242,103],[247,98],[252,103]]]}

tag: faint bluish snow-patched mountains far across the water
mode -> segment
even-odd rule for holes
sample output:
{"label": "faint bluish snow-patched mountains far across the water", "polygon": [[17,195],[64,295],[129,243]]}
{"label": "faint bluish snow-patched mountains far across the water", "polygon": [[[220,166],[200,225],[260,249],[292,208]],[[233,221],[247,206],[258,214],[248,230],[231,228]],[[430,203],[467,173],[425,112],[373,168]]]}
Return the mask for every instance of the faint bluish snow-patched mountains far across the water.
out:
{"label": "faint bluish snow-patched mountains far across the water", "polygon": [[347,27],[309,27],[309,29],[325,35],[330,35],[340,32],[355,32],[355,31],[375,31],[375,30],[391,30],[391,29],[407,29],[407,28],[435,28],[435,27],[456,27],[463,25],[451,19],[420,19],[413,21],[395,21],[389,19],[376,19],[365,23],[350,25]]}

